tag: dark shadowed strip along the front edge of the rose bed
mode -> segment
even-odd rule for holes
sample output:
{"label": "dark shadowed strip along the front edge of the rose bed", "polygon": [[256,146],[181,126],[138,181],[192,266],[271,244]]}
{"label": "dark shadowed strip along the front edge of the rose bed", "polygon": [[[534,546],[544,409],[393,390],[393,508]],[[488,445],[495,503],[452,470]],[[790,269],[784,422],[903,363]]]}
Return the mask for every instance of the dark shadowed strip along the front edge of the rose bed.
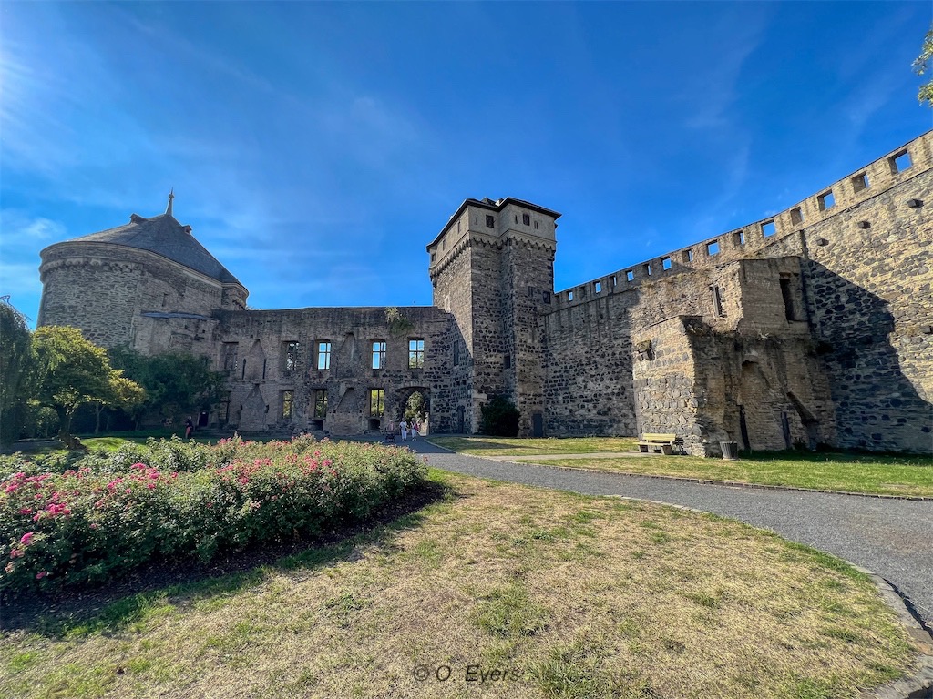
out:
{"label": "dark shadowed strip along the front edge of the rose bed", "polygon": [[315,570],[355,560],[364,545],[391,545],[398,534],[419,527],[425,510],[462,497],[443,477],[386,506],[367,522],[351,523],[315,539],[256,546],[206,565],[160,562],[96,589],[4,599],[0,630],[29,631],[53,639],[117,634],[166,608],[230,596],[284,570]]}

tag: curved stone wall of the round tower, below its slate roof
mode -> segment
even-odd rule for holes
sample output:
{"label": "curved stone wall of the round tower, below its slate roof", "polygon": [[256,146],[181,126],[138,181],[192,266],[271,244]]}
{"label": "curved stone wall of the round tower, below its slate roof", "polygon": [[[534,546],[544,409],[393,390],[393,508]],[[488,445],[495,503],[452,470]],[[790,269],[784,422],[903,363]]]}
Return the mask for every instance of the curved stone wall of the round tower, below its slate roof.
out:
{"label": "curved stone wall of the round tower, below its slate roof", "polygon": [[153,354],[168,338],[137,342],[142,313],[209,316],[221,304],[219,282],[158,254],[122,245],[59,243],[43,251],[39,271],[43,289],[38,324],[73,325],[107,348],[130,344]]}

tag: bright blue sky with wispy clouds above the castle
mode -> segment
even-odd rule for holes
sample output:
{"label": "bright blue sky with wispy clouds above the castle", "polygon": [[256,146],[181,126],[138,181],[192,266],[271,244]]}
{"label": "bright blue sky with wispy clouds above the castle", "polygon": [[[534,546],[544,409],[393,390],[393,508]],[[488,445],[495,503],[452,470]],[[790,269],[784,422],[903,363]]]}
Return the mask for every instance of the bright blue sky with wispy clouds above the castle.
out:
{"label": "bright blue sky with wispy clouds above the castle", "polygon": [[933,128],[930,2],[0,5],[0,295],[174,214],[255,308],[428,305],[466,198],[564,214],[564,289]]}

